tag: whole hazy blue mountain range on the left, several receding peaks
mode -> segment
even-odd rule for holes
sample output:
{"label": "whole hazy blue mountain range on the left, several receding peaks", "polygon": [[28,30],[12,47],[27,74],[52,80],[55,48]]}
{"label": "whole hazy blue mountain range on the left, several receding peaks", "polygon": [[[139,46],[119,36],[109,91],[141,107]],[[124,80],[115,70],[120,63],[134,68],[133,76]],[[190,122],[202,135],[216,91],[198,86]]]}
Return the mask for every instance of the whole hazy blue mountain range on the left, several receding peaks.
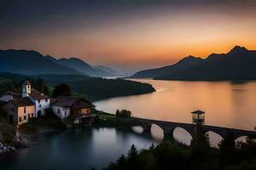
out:
{"label": "whole hazy blue mountain range on the left, several receding peaks", "polygon": [[24,75],[72,74],[88,77],[116,77],[118,71],[107,66],[91,66],[81,59],[55,59],[29,50],[0,50],[0,72]]}

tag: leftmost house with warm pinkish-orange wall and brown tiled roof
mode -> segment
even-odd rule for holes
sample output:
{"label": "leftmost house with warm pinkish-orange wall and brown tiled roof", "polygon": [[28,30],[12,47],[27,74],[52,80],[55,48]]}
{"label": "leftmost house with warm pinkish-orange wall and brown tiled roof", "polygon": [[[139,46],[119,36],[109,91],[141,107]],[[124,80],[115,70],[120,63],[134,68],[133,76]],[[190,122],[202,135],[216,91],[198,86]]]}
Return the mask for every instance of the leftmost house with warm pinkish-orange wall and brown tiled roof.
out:
{"label": "leftmost house with warm pinkish-orange wall and brown tiled roof", "polygon": [[28,122],[29,118],[35,117],[35,105],[28,97],[14,97],[2,107],[8,113],[7,118],[10,123],[21,125]]}

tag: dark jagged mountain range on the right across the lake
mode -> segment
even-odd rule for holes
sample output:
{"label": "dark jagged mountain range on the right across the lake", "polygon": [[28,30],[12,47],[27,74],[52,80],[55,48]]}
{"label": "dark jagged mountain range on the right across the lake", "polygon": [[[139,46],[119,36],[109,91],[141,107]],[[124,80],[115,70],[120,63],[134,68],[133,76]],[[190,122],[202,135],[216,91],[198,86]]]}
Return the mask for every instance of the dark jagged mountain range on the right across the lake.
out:
{"label": "dark jagged mountain range on the right across the lake", "polygon": [[206,59],[189,56],[174,65],[139,71],[131,78],[189,81],[256,80],[256,51],[236,46],[227,54]]}

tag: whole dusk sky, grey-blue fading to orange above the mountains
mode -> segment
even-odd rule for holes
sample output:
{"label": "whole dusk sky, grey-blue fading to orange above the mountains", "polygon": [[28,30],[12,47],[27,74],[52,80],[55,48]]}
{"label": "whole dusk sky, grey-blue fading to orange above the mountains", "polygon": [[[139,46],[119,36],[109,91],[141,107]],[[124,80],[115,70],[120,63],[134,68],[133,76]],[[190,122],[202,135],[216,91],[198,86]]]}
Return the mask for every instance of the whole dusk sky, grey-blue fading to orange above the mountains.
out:
{"label": "whole dusk sky, grey-blue fading to orange above the mountains", "polygon": [[256,49],[256,0],[0,0],[0,49],[137,71]]}

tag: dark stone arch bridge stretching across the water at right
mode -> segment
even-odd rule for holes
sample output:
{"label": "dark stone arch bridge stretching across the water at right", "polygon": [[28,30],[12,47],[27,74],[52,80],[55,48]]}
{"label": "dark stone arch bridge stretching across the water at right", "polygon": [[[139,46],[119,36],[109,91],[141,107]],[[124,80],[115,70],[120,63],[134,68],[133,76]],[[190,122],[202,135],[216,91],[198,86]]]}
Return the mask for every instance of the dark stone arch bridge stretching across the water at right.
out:
{"label": "dark stone arch bridge stretching across the water at right", "polygon": [[[192,138],[195,137],[195,129],[196,124],[192,123],[183,123],[183,122],[166,122],[166,121],[157,121],[157,120],[150,120],[150,119],[143,119],[143,118],[137,118],[132,117],[131,121],[133,122],[133,125],[142,126],[144,132],[148,132],[151,129],[152,124],[156,124],[159,126],[163,132],[164,135],[172,135],[173,131],[176,127],[181,127],[184,130],[186,130]],[[226,135],[232,134],[235,139],[238,139],[243,136],[247,136],[251,139],[256,139],[256,131],[248,131],[248,130],[241,130],[236,128],[229,128],[229,127],[215,127],[215,126],[209,126],[209,125],[202,125],[202,130],[204,133],[207,132],[213,132],[220,135],[223,139]]]}

